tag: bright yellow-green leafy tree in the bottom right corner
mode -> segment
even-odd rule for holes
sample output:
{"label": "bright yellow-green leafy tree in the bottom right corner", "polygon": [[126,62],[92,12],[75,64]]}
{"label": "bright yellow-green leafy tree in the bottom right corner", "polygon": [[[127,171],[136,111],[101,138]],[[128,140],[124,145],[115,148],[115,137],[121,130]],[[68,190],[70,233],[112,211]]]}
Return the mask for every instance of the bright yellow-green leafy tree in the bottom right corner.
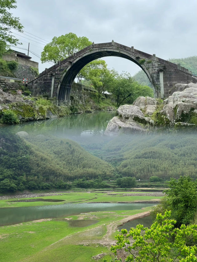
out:
{"label": "bright yellow-green leafy tree in the bottom right corner", "polygon": [[111,246],[111,250],[115,254],[117,250],[129,252],[125,260],[127,262],[197,261],[194,244],[197,240],[197,225],[182,225],[180,229],[174,229],[176,221],[169,219],[170,216],[171,211],[166,211],[164,215],[157,214],[150,229],[140,224],[129,232],[122,229],[121,234],[115,236],[117,242]]}

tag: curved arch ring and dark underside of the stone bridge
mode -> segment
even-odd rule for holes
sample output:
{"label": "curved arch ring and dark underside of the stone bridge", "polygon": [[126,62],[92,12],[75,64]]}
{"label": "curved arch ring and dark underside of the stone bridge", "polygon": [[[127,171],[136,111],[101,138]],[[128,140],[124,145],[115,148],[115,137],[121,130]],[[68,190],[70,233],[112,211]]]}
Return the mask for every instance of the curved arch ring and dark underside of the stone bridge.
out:
{"label": "curved arch ring and dark underside of the stone bridge", "polygon": [[140,63],[140,57],[135,56],[133,52],[130,51],[131,48],[130,50],[125,50],[123,48],[120,48],[120,46],[117,47],[115,45],[112,45],[112,43],[110,43],[111,46],[108,46],[107,48],[106,46],[103,48],[102,46],[98,47],[98,45],[94,46],[93,44],[79,51],[80,54],[78,54],[78,52],[72,56],[72,59],[69,61],[70,65],[68,65],[68,67],[66,68],[58,84],[57,96],[59,101],[70,100],[71,85],[74,82],[74,79],[77,76],[78,72],[80,72],[80,70],[85,65],[87,65],[91,61],[94,61],[95,59],[109,56],[122,57],[138,65],[146,73],[148,79],[151,82],[154,96],[157,97],[157,86],[155,84],[153,76],[151,75],[151,72],[148,70],[146,65],[144,65],[144,63]]}

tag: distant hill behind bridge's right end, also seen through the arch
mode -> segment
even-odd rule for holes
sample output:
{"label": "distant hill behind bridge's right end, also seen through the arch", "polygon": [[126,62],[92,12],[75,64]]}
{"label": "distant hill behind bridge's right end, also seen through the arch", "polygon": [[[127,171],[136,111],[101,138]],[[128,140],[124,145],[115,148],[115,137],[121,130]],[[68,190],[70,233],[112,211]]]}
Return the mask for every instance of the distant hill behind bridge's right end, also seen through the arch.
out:
{"label": "distant hill behind bridge's right end, also seen through the arch", "polygon": [[[197,76],[197,56],[186,58],[170,58],[168,59],[168,61],[175,64],[180,64],[181,66],[191,71],[193,75]],[[133,76],[133,78],[139,83],[142,83],[142,85],[147,85],[151,87],[151,83],[143,70],[137,72]]]}

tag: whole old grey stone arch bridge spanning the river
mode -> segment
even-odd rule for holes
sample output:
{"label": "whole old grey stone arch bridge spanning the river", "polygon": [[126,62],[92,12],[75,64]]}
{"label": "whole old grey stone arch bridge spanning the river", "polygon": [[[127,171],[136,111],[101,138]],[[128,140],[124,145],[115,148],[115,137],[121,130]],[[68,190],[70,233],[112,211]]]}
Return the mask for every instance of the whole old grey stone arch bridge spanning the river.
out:
{"label": "whole old grey stone arch bridge spanning the river", "polygon": [[29,82],[28,88],[34,96],[42,94],[57,97],[59,104],[70,103],[71,86],[78,72],[89,62],[108,56],[126,58],[142,68],[151,82],[155,97],[169,96],[177,83],[197,83],[197,77],[180,64],[176,65],[156,57],[155,54],[150,55],[112,40],[101,44],[93,42],[65,60],[58,61]]}

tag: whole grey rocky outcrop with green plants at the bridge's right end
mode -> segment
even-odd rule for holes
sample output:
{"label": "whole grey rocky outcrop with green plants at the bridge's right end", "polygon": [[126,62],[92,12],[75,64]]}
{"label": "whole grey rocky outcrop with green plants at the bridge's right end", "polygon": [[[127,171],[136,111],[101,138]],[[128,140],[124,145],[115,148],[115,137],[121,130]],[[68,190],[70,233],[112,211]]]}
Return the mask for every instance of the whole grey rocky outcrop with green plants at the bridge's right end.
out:
{"label": "whole grey rocky outcrop with green plants at the bridge's right end", "polygon": [[[144,132],[157,126],[197,126],[197,84],[176,84],[163,103],[151,97],[138,97],[133,105],[118,108],[118,116],[110,120],[105,134]],[[180,91],[181,90],[181,91]]]}

